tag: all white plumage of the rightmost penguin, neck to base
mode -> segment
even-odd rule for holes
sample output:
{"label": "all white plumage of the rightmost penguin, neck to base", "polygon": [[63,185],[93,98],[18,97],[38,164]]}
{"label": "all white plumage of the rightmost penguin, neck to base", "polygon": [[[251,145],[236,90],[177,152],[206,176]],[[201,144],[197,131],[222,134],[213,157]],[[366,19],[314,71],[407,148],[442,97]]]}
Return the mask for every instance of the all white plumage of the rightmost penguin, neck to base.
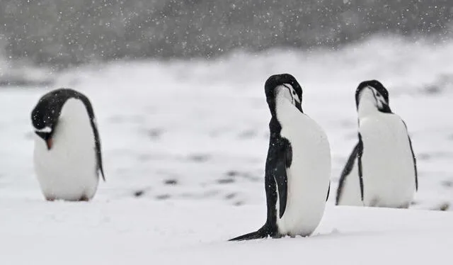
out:
{"label": "all white plumage of the rightmost penguin, neck to base", "polygon": [[360,96],[358,116],[364,201],[360,199],[356,158],[338,204],[407,208],[415,193],[415,170],[403,120],[394,113],[378,111],[371,89],[365,89]]}

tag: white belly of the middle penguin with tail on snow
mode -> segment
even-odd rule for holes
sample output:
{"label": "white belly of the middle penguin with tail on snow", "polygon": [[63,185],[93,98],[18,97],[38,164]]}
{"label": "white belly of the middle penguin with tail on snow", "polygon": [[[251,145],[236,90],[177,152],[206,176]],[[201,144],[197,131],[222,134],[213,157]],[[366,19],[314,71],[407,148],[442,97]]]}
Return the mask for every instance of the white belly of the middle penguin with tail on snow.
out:
{"label": "white belly of the middle penguin with tail on snow", "polygon": [[277,217],[277,226],[281,235],[308,236],[319,225],[326,205],[331,176],[330,146],[322,128],[294,106],[277,104],[277,119],[282,125],[282,137],[292,145],[292,164],[287,169],[287,205],[282,218]]}

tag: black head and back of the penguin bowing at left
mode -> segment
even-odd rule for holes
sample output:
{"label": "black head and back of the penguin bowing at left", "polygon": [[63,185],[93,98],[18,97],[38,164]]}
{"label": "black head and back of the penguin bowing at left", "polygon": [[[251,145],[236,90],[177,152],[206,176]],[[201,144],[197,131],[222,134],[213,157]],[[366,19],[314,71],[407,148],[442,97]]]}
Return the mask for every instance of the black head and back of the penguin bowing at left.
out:
{"label": "black head and back of the penguin bowing at left", "polygon": [[103,180],[105,181],[101,154],[101,140],[98,133],[98,126],[96,125],[96,117],[91,102],[84,94],[73,89],[56,89],[45,94],[40,98],[38,104],[33,108],[31,113],[33,127],[36,130],[49,127],[52,129],[50,132],[50,136],[52,136],[52,133],[58,125],[59,115],[62,113],[64,103],[66,103],[69,98],[81,100],[86,107],[88,117],[90,118],[91,128],[93,129],[98,171],[101,172]]}

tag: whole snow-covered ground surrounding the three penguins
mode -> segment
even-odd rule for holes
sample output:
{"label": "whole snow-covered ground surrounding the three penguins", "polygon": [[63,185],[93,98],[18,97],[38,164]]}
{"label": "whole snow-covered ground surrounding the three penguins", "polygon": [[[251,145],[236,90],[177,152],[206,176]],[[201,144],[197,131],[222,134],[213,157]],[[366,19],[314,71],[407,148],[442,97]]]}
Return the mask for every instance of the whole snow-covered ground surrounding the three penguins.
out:
{"label": "whole snow-covered ground surrounding the three penguins", "polygon": [[[448,264],[453,215],[429,210],[453,209],[452,61],[453,43],[372,39],[336,52],[91,65],[59,74],[52,87],[0,88],[0,256],[8,264]],[[355,88],[382,81],[418,157],[413,210],[329,206],[316,237],[224,242],[264,221],[263,86],[282,72],[302,84],[304,112],[331,142],[330,204],[357,137]],[[107,182],[90,203],[47,203],[33,175],[30,111],[61,86],[83,91],[98,117]]]}

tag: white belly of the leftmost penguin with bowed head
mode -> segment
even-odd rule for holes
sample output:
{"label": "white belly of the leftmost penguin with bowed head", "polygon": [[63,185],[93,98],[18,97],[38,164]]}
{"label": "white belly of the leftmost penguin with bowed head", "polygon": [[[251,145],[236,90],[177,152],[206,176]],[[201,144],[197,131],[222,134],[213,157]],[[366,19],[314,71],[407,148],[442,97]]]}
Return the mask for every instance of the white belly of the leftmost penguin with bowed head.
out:
{"label": "white belly of the leftmost penguin with bowed head", "polygon": [[93,198],[98,186],[95,142],[81,101],[71,98],[64,104],[51,150],[35,135],[34,164],[45,198]]}

